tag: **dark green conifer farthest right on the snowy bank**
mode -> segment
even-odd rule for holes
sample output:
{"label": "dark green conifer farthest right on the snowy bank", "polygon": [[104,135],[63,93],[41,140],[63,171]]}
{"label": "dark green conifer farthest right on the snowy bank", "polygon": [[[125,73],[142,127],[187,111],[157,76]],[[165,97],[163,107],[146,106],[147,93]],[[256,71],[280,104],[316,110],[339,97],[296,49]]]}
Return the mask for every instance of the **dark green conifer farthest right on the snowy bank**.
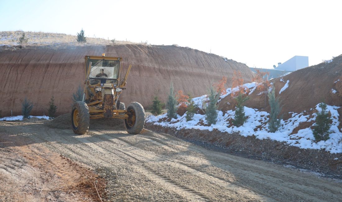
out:
{"label": "dark green conifer farthest right on the snowy bank", "polygon": [[320,103],[318,105],[321,108],[320,112],[317,112],[316,124],[312,130],[316,141],[328,140],[331,131],[329,131],[331,126],[331,119],[327,110],[327,105],[325,103]]}

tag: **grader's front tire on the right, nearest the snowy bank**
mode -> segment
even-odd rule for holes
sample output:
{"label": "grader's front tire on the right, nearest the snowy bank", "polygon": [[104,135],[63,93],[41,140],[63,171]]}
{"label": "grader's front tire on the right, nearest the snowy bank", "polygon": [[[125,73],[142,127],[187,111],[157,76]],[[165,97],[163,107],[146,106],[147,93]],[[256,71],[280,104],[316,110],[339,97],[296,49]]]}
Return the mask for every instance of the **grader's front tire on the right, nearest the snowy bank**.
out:
{"label": "grader's front tire on the right, nearest the snowy bank", "polygon": [[[127,113],[129,114],[130,118],[124,120],[126,131],[130,134],[140,133],[145,124],[144,107],[137,102],[130,103],[127,106]],[[135,117],[134,121],[132,121],[132,115]]]}

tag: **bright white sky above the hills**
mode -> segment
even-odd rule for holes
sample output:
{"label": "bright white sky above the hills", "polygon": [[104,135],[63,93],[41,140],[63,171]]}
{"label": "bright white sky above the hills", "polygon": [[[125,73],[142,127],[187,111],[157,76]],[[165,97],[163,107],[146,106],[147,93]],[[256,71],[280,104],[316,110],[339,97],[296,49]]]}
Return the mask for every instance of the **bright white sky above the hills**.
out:
{"label": "bright white sky above the hills", "polygon": [[188,46],[248,66],[342,54],[342,1],[0,0],[0,31],[44,31]]}

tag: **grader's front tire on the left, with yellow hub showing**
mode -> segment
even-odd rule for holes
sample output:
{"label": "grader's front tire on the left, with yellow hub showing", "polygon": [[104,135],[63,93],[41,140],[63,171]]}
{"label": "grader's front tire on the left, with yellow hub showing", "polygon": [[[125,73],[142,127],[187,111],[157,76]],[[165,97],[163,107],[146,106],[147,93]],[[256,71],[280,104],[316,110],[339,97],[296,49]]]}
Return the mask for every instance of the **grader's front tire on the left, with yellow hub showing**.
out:
{"label": "grader's front tire on the left, with yellow hub showing", "polygon": [[75,134],[83,135],[89,130],[89,108],[85,102],[74,103],[71,110],[71,127]]}

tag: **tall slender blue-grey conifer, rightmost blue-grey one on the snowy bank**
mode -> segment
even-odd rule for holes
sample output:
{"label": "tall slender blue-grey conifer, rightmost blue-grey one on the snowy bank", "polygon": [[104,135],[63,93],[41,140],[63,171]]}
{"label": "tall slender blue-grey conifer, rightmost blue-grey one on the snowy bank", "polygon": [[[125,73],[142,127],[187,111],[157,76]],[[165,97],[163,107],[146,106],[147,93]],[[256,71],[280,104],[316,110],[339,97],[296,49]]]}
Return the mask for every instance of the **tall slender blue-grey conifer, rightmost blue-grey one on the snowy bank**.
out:
{"label": "tall slender blue-grey conifer, rightmost blue-grey one on the snowy bank", "polygon": [[269,120],[268,120],[268,130],[271,133],[278,131],[280,127],[280,120],[282,116],[279,117],[279,113],[281,111],[282,106],[280,106],[279,97],[275,96],[275,87],[272,87],[272,91],[268,92],[268,104],[271,108],[271,112],[269,112]]}

